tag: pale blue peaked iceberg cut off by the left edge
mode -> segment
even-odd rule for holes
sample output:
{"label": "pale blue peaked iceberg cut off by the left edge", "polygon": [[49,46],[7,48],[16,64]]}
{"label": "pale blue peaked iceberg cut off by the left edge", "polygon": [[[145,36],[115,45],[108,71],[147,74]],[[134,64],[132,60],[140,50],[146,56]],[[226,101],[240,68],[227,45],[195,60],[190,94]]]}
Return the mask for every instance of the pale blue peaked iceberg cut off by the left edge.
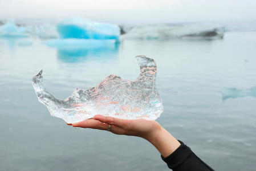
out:
{"label": "pale blue peaked iceberg cut off by the left edge", "polygon": [[14,20],[9,20],[5,25],[0,26],[0,37],[24,38],[28,36],[27,28],[15,25]]}

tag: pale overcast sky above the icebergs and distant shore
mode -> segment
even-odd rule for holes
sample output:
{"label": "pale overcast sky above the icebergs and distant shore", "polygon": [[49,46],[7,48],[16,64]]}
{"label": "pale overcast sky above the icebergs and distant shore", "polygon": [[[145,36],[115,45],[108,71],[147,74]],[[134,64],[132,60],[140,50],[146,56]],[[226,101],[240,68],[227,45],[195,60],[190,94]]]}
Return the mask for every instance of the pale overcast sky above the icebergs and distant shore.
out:
{"label": "pale overcast sky above the icebergs and distant shore", "polygon": [[112,23],[250,21],[256,0],[0,0],[0,18],[85,17]]}

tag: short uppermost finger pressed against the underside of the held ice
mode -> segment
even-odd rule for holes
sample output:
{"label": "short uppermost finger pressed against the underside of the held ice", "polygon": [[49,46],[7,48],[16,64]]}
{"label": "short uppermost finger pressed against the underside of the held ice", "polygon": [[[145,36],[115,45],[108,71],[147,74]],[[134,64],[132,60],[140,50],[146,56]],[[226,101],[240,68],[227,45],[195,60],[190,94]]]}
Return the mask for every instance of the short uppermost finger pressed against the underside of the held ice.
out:
{"label": "short uppermost finger pressed against the underside of the held ice", "polygon": [[101,121],[101,123],[107,123],[109,125],[116,125],[118,127],[123,127],[126,121],[124,119],[118,119],[116,117],[109,117],[103,115],[95,115],[95,120]]}

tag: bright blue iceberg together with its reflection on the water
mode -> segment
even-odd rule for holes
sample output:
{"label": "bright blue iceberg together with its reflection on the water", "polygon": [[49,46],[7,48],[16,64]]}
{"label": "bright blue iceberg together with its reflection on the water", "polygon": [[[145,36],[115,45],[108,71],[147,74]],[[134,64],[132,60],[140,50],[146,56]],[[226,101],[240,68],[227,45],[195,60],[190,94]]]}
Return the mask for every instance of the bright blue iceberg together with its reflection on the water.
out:
{"label": "bright blue iceberg together with its reflection on the water", "polygon": [[60,39],[45,42],[58,49],[63,62],[81,62],[87,57],[116,56],[119,47],[120,28],[107,23],[72,18],[56,26]]}

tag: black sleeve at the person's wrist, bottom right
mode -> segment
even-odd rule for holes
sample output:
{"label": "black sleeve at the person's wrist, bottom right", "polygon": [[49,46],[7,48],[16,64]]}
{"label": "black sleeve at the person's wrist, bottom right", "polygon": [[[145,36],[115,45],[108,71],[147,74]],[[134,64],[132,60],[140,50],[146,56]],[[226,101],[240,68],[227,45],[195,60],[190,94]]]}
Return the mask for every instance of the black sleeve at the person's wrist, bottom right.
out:
{"label": "black sleeve at the person's wrist, bottom right", "polygon": [[[178,140],[179,141],[179,140]],[[205,164],[200,158],[192,152],[192,150],[186,146],[182,141],[179,141],[181,145],[168,157],[164,158],[161,156],[162,160],[166,162],[168,168],[173,171],[209,171],[213,170]]]}

